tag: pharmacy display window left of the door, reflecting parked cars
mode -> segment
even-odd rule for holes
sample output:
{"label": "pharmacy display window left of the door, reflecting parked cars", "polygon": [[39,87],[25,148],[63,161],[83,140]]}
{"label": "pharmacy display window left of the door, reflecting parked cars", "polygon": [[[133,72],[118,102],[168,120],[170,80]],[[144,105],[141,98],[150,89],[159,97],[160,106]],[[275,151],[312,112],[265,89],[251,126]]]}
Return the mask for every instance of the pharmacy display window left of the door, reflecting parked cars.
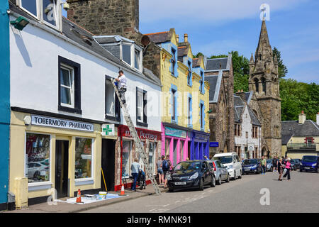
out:
{"label": "pharmacy display window left of the door, reflecting parked cars", "polygon": [[50,135],[26,133],[28,182],[50,181]]}

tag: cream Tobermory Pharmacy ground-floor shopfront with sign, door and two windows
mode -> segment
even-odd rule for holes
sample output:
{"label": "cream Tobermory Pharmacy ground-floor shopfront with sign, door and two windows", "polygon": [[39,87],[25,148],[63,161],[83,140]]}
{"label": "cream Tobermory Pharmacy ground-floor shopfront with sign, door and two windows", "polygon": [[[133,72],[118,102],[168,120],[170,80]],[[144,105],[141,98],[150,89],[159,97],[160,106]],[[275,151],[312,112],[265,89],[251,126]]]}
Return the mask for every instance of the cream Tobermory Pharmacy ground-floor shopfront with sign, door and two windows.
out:
{"label": "cream Tobermory Pharmacy ground-floor shopfront with sign, door and two windows", "polygon": [[101,125],[52,115],[11,112],[9,187],[17,208],[101,188]]}

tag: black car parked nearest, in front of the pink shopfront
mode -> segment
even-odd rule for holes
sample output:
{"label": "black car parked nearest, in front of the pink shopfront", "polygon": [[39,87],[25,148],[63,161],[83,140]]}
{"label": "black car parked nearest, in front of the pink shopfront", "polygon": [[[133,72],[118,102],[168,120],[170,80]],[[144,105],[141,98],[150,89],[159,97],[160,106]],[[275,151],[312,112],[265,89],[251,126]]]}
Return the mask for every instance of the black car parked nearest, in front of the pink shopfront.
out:
{"label": "black car parked nearest, in front of the pink shopfront", "polygon": [[203,190],[206,184],[215,187],[216,179],[213,168],[203,160],[179,162],[167,176],[169,192],[174,192],[174,189]]}

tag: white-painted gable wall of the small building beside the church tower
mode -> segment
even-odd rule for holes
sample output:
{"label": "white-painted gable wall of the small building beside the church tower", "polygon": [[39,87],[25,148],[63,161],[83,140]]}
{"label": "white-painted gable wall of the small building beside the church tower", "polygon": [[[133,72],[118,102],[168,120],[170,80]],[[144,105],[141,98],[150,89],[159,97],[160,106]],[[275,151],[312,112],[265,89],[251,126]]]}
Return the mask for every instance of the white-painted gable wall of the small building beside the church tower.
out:
{"label": "white-painted gable wall of the small building beside the church tower", "polygon": [[[250,113],[247,106],[245,106],[244,113],[242,114],[242,123],[241,123],[241,136],[235,136],[235,146],[240,146],[242,152],[245,151],[245,146],[254,144],[254,147],[257,147],[257,154],[260,153],[260,131],[258,129],[257,138],[252,138],[252,119],[250,118]],[[246,132],[248,132],[248,138],[246,138]],[[241,157],[240,157],[241,158]]]}

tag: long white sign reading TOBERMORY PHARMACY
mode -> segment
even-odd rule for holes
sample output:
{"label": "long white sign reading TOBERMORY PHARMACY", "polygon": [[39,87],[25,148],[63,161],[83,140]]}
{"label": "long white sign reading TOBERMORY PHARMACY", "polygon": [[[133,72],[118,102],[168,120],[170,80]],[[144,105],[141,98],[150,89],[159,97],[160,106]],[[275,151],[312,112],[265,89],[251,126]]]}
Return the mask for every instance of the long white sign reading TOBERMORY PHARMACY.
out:
{"label": "long white sign reading TOBERMORY PHARMACY", "polygon": [[46,126],[54,128],[65,128],[78,131],[94,131],[94,125],[91,123],[83,123],[79,121],[69,121],[59,118],[49,118],[46,116],[31,116],[31,124],[34,126]]}

